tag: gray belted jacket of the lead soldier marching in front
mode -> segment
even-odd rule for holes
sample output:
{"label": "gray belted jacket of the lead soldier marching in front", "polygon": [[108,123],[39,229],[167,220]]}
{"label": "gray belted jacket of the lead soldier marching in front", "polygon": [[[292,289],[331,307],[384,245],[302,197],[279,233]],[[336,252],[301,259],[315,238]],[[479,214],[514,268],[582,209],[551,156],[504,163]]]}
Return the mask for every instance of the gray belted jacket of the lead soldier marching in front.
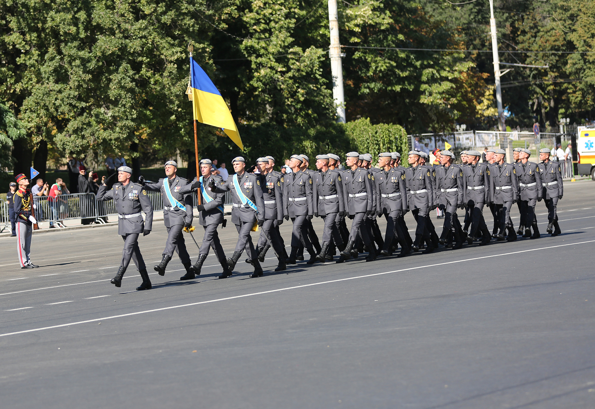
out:
{"label": "gray belted jacket of the lead soldier marching in front", "polygon": [[[151,230],[153,225],[153,206],[147,196],[147,191],[137,183],[130,182],[126,186],[115,183],[111,190],[107,186],[99,186],[97,192],[98,202],[107,202],[114,199],[115,209],[118,212],[118,234],[123,236],[131,233],[142,233],[143,230]],[[140,215],[140,210],[145,212],[145,221]],[[120,216],[135,215],[131,218]]]}

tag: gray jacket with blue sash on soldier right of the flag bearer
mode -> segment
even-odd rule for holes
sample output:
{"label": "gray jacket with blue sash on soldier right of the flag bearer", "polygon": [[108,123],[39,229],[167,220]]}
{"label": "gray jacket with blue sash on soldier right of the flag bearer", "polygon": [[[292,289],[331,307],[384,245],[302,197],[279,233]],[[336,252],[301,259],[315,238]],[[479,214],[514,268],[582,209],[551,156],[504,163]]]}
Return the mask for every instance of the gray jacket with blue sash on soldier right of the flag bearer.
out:
{"label": "gray jacket with blue sash on soldier right of the flag bearer", "polygon": [[220,186],[215,185],[213,191],[215,193],[226,193],[231,191],[231,203],[234,204],[231,209],[231,222],[239,225],[242,222],[255,222],[256,219],[264,220],[264,199],[262,198],[262,190],[260,189],[260,181],[256,175],[244,172],[241,177],[237,178],[240,189],[252,203],[256,204],[256,212],[248,204],[242,204],[242,200],[236,193],[236,188],[233,185],[233,175],[229,175],[227,181]]}

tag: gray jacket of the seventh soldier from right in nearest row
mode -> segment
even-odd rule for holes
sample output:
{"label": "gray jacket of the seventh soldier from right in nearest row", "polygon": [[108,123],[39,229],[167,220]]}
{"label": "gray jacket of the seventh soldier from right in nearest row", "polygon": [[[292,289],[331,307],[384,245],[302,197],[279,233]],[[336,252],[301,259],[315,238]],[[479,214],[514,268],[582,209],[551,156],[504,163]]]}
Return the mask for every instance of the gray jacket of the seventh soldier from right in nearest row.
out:
{"label": "gray jacket of the seventh soldier from right in nearest row", "polygon": [[374,174],[377,212],[390,213],[393,210],[406,210],[407,188],[405,186],[405,169],[392,168],[388,172],[384,169]]}

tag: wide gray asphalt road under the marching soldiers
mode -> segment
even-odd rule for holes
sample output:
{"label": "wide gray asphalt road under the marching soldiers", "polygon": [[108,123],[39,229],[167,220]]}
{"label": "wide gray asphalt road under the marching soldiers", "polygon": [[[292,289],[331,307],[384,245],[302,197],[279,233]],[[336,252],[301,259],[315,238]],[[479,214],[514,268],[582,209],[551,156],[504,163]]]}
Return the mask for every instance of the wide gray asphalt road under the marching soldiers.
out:
{"label": "wide gray asphalt road under the marching soldiers", "polygon": [[[109,284],[115,226],[34,235],[34,270],[0,238],[0,407],[593,408],[594,192],[565,185],[558,237],[541,202],[538,240],[282,273],[271,250],[256,279],[246,263],[215,279],[209,255],[180,282],[174,258],[138,292],[132,267]],[[154,228],[140,239],[149,269],[165,241]]]}

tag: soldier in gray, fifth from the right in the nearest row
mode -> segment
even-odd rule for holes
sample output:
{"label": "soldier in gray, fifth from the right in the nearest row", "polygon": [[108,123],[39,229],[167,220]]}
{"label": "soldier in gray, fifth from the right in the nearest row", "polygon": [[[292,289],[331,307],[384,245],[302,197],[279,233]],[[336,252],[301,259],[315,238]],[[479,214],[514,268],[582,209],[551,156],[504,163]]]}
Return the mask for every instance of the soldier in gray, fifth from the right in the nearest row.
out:
{"label": "soldier in gray, fifth from the right in the nearest row", "polygon": [[[466,151],[465,151],[466,152]],[[466,155],[465,155],[466,158]],[[452,245],[452,236],[455,237],[453,250],[463,247],[463,238],[460,234],[460,225],[456,209],[463,209],[463,169],[453,165],[455,155],[450,150],[443,150],[440,153],[441,166],[436,168],[436,202],[440,209],[444,210],[444,225],[442,228],[441,240],[447,242],[447,247]]]}

